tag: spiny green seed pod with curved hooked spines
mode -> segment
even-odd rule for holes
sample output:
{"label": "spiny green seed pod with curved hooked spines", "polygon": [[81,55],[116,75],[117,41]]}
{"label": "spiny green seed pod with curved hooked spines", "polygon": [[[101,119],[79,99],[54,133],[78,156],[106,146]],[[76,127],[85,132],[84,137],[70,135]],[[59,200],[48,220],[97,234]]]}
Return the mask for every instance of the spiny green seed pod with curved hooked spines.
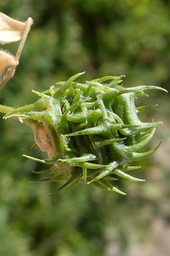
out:
{"label": "spiny green seed pod with curved hooked spines", "polygon": [[152,106],[135,108],[135,97],[145,95],[147,89],[166,90],[145,85],[121,87],[118,84],[123,76],[75,82],[82,74],[59,82],[57,89],[51,86],[45,92],[33,91],[41,97],[37,102],[10,111],[4,118],[17,117],[33,128],[35,143],[48,158],[27,158],[52,165],[46,172],[53,176],[46,180],[66,180],[59,191],[84,181],[124,194],[109,180],[119,176],[140,181],[127,174],[139,168],[132,162],[152,155],[161,144],[137,153],[153,137],[160,122],[140,121],[137,112]]}

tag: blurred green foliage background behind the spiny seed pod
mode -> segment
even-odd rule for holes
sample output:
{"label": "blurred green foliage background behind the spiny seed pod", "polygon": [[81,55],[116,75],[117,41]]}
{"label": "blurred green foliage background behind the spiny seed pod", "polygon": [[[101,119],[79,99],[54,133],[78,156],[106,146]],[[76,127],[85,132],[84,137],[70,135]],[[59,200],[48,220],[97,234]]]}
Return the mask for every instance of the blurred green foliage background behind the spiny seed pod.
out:
{"label": "blurred green foliage background behind the spiny seed pod", "polygon": [[[80,81],[126,75],[124,86],[152,84],[169,89],[169,0],[6,0],[0,10],[34,24],[14,77],[1,89],[0,103],[19,107],[38,99],[56,81],[86,71]],[[13,54],[18,42],[1,46]],[[33,132],[1,114],[0,255],[168,256],[170,255],[169,95],[150,91],[140,113],[163,121],[148,148],[163,138],[156,154],[135,173],[145,183],[119,180],[127,196],[80,184],[50,196],[56,183],[28,183],[45,169],[22,156]],[[40,151],[28,152],[43,158]]]}

